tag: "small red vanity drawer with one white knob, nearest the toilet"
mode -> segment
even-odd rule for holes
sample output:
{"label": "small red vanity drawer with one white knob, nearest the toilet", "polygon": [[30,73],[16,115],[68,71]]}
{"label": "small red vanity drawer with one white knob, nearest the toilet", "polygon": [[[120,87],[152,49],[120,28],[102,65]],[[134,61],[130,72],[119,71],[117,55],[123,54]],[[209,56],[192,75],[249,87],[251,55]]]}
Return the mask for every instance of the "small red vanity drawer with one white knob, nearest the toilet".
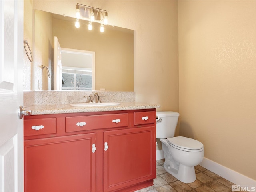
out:
{"label": "small red vanity drawer with one white knob, nearest the toilet", "polygon": [[156,122],[156,112],[134,112],[134,125],[150,124]]}

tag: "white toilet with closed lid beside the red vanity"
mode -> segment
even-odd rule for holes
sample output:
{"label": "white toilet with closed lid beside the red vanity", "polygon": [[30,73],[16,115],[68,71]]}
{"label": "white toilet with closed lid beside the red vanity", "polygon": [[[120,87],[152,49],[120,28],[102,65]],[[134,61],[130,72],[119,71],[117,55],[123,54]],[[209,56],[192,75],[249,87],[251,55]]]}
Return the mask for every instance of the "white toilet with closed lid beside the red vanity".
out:
{"label": "white toilet with closed lid beside the red vanity", "polygon": [[187,137],[173,137],[179,113],[156,112],[156,138],[162,142],[165,170],[184,183],[196,180],[194,166],[204,158],[204,145]]}

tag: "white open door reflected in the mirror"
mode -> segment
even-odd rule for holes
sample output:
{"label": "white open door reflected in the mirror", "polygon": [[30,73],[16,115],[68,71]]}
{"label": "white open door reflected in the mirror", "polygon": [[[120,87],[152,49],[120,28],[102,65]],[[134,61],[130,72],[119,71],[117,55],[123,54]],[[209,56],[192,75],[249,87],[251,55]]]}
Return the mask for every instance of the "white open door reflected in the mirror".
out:
{"label": "white open door reflected in the mirror", "polygon": [[61,47],[57,37],[54,37],[54,90],[62,90]]}

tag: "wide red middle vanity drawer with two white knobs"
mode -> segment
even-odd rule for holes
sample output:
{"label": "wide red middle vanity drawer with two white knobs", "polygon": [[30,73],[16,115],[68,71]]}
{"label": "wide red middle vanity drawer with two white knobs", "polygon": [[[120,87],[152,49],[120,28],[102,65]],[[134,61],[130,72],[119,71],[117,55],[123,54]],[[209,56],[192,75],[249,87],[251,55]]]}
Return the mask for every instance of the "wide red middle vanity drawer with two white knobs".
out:
{"label": "wide red middle vanity drawer with two white knobs", "polygon": [[128,126],[128,113],[66,117],[66,132]]}

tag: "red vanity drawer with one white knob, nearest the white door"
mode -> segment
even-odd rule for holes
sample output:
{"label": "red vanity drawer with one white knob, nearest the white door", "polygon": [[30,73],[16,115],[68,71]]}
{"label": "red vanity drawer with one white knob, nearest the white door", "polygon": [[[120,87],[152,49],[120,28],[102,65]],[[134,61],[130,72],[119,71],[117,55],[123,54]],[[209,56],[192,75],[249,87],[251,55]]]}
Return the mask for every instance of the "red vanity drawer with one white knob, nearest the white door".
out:
{"label": "red vanity drawer with one white knob, nearest the white door", "polygon": [[57,133],[56,118],[24,119],[24,136]]}

